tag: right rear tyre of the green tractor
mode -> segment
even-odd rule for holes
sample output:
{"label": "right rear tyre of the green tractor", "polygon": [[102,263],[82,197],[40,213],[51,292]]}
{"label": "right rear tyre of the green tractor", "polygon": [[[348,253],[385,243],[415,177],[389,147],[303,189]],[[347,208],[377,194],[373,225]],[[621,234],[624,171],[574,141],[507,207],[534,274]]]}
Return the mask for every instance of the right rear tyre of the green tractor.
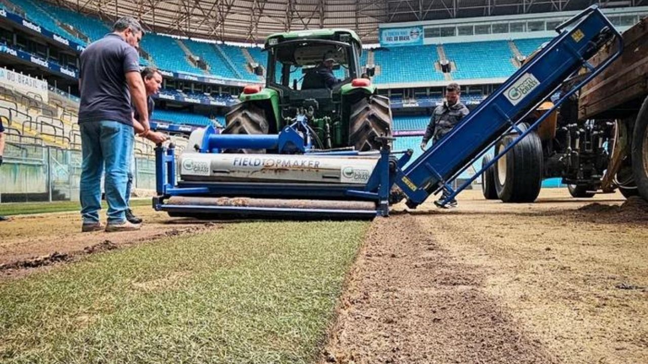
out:
{"label": "right rear tyre of the green tractor", "polygon": [[389,98],[371,95],[351,106],[349,146],[361,152],[380,149],[376,137],[391,137],[391,107]]}

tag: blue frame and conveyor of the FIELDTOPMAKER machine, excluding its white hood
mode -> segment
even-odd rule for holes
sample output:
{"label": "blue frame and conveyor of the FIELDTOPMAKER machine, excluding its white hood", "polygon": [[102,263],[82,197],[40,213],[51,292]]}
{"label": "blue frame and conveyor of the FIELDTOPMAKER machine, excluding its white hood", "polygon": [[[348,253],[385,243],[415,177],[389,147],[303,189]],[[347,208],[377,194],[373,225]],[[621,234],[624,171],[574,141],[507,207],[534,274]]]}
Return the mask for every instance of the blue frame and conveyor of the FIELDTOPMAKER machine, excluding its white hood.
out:
{"label": "blue frame and conveyor of the FIELDTOPMAKER machine, excluding its white hood", "polygon": [[[380,157],[376,161],[371,176],[363,185],[345,183],[267,183],[248,181],[246,183],[224,181],[179,181],[176,183],[176,158],[174,148],[156,149],[157,198],[154,208],[170,214],[247,214],[262,217],[295,218],[373,218],[388,216],[389,204],[393,202],[393,191],[400,188],[407,199],[408,207],[415,208],[423,203],[430,194],[445,189],[448,196],[437,205],[444,207],[461,190],[487,168],[496,163],[502,155],[535,130],[562,102],[601,73],[623,51],[621,34],[596,6],[581,12],[556,28],[559,35],[524,64],[489,98],[465,117],[441,141],[435,143],[420,157],[410,161],[411,150],[404,153],[392,152],[391,138],[382,138]],[[591,65],[588,59],[594,56],[605,43],[614,38],[618,51],[599,63]],[[537,108],[537,105],[553,95],[564,80],[586,67],[588,74],[572,89],[563,93],[553,108],[548,109],[529,128],[518,126],[521,120]],[[221,148],[272,148],[283,153],[303,153],[308,155],[310,139],[299,133],[297,126],[284,128],[279,135],[218,135],[212,131],[205,133],[200,152],[218,152]],[[292,130],[291,130],[292,129]],[[482,166],[474,176],[456,190],[450,187],[461,172],[489,150],[503,135],[516,132],[518,137],[495,157]],[[327,157],[322,153],[322,157]],[[178,196],[202,196],[216,198],[275,198],[299,199],[294,206],[286,205],[246,205],[246,204],[185,204],[165,203],[167,199]],[[390,201],[392,198],[392,201]],[[369,209],[337,209],[326,205],[304,205],[304,199],[370,201]]]}

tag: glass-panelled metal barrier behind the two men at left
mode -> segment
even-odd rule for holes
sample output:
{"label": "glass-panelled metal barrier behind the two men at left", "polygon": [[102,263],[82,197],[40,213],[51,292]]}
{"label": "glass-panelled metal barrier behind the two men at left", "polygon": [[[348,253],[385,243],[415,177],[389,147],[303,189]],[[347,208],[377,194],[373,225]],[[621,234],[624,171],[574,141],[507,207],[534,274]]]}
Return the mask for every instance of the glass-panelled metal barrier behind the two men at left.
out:
{"label": "glass-panelled metal barrier behind the two men at left", "polygon": [[[46,146],[37,137],[5,135],[4,162],[0,166],[0,203],[78,200],[80,150]],[[154,158],[136,154],[133,178],[133,188],[154,190]]]}

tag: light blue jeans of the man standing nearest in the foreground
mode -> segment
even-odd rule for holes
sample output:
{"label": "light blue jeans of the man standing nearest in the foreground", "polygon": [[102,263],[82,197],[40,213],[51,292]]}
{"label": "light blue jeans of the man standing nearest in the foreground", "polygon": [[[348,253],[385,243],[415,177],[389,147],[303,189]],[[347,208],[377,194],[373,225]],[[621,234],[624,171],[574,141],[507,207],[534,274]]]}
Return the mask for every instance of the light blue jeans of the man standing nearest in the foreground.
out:
{"label": "light blue jeans of the man standing nearest in the foreground", "polygon": [[128,209],[126,181],[135,139],[133,127],[117,121],[102,120],[83,122],[80,129],[83,164],[79,197],[83,223],[99,222],[100,181],[104,165],[108,223],[124,223],[124,211]]}

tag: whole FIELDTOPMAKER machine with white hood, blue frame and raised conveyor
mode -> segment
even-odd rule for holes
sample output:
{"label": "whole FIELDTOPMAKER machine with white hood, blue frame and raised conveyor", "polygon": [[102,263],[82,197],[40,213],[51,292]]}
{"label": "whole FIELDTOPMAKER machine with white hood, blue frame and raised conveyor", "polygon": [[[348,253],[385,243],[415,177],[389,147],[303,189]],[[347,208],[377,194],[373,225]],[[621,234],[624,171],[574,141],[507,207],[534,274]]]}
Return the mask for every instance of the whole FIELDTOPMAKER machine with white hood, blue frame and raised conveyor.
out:
{"label": "whole FIELDTOPMAKER machine with white hood, blue frame and raised conveyor", "polygon": [[[307,111],[314,102],[305,99],[292,122],[274,135],[226,135],[207,128],[192,133],[189,144],[194,150],[179,156],[172,145],[158,146],[154,209],[195,217],[374,218],[389,216],[389,206],[402,199],[415,209],[441,190],[447,197],[437,205],[446,207],[509,150],[526,155],[537,142],[538,126],[623,50],[621,35],[596,6],[556,30],[558,36],[537,56],[409,164],[413,152],[392,150],[394,139],[389,135],[369,143],[379,150],[316,148],[310,127],[313,113]],[[592,65],[590,58],[610,42],[616,42],[616,51]],[[571,82],[551,108],[533,123],[523,123],[582,67],[587,72]],[[348,87],[368,90],[367,81],[347,82]],[[456,189],[451,187],[463,170],[503,139],[505,147],[482,170]],[[222,153],[231,150],[272,153]]]}

